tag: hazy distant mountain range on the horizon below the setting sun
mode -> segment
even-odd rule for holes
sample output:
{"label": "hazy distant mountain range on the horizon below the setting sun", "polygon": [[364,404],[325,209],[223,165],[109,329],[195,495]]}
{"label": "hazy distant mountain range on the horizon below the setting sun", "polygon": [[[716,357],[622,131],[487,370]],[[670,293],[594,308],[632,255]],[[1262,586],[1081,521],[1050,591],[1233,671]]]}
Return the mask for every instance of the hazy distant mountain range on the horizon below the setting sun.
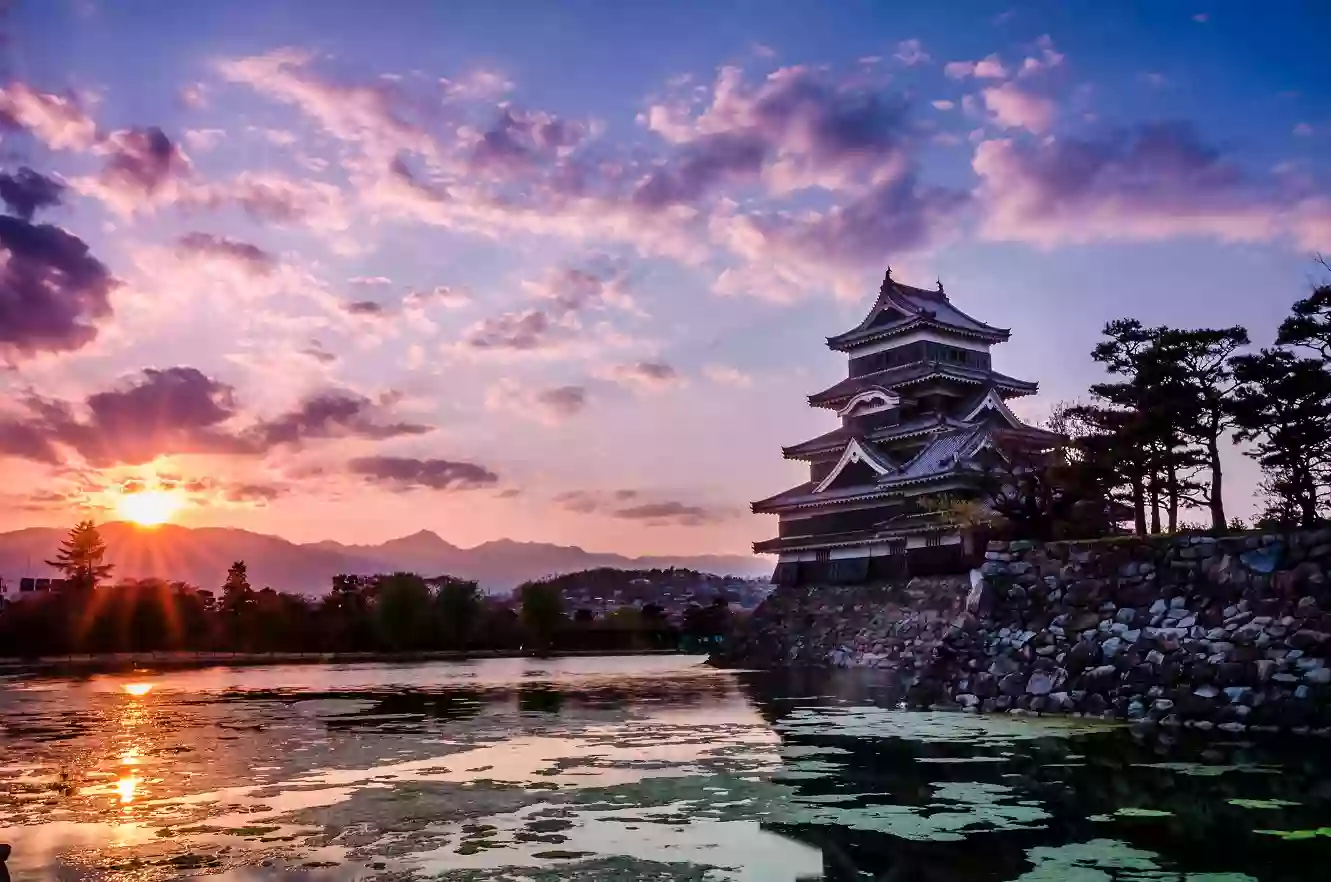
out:
{"label": "hazy distant mountain range on the horizon below the setting sun", "polygon": [[[164,524],[144,529],[122,521],[101,524],[108,561],[117,577],[162,577],[217,588],[234,560],[249,568],[250,584],[278,591],[323,593],[337,573],[419,572],[475,579],[487,591],[507,591],[528,579],[592,567],[685,567],[735,576],[767,575],[769,561],[743,555],[626,557],[576,545],[499,539],[459,548],[427,529],[378,545],[325,540],[297,544],[280,536],[221,527]],[[55,576],[45,565],[65,529],[29,527],[0,533],[0,577],[17,589],[23,576]]]}

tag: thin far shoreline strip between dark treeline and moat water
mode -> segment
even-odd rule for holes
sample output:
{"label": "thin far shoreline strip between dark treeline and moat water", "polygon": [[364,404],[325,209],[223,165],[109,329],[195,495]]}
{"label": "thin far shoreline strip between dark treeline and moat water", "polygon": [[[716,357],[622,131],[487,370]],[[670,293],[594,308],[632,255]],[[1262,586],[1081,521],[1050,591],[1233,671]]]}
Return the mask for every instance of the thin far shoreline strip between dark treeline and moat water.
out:
{"label": "thin far shoreline strip between dark treeline and moat water", "polygon": [[568,649],[538,655],[511,649],[435,651],[435,652],[136,652],[75,653],[39,659],[0,657],[0,676],[24,673],[110,673],[141,669],[241,668],[262,665],[345,665],[419,661],[473,661],[482,659],[576,659],[614,656],[688,656],[699,653],[677,649],[622,649],[600,652]]}

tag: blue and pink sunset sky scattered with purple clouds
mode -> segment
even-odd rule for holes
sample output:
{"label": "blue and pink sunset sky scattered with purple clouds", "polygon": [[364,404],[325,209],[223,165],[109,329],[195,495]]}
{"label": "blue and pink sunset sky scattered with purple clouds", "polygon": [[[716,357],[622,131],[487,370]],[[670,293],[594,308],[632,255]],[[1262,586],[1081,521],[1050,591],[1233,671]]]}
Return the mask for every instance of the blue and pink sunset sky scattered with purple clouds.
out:
{"label": "blue and pink sunset sky scattered with purple clouds", "polygon": [[1038,420],[1331,250],[1320,4],[7,7],[0,529],[743,552],[888,266]]}

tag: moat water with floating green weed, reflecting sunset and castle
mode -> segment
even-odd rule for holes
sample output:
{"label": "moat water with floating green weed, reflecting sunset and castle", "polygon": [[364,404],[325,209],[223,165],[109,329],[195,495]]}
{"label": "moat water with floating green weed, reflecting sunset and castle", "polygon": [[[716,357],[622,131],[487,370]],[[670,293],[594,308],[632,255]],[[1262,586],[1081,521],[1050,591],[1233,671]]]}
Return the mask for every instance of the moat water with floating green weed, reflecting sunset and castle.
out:
{"label": "moat water with floating green weed, reflecting sunset and castle", "polygon": [[[701,659],[0,680],[12,879],[1326,879],[1331,744]],[[3,875],[3,874],[0,874]]]}

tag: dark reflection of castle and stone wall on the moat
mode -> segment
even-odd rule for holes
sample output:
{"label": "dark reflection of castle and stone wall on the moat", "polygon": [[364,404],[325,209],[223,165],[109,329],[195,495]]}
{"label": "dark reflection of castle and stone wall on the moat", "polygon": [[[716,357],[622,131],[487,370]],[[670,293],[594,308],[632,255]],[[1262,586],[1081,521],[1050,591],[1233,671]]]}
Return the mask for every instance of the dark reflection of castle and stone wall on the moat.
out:
{"label": "dark reflection of castle and stone wall on the moat", "polygon": [[747,677],[792,794],[768,826],[819,847],[829,881],[1323,878],[1308,861],[1331,841],[1268,833],[1331,821],[1323,741],[890,710],[835,680],[792,698]]}

